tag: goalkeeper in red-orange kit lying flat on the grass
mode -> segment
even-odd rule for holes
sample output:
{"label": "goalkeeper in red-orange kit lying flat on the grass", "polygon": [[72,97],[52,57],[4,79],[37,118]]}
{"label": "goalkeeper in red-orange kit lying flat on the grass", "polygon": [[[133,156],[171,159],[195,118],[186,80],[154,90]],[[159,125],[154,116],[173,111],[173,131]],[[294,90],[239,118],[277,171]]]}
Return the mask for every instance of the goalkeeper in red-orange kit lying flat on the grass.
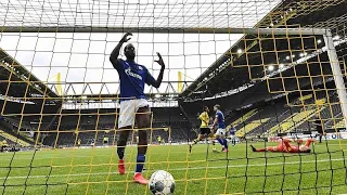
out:
{"label": "goalkeeper in red-orange kit lying flat on the grass", "polygon": [[[280,139],[279,145],[277,146],[268,146],[265,148],[255,148],[250,145],[253,152],[272,152],[272,153],[310,153],[310,144],[313,142],[311,139],[308,139],[303,145],[292,145],[291,140],[288,139]],[[298,140],[298,143],[303,142],[303,140]]]}

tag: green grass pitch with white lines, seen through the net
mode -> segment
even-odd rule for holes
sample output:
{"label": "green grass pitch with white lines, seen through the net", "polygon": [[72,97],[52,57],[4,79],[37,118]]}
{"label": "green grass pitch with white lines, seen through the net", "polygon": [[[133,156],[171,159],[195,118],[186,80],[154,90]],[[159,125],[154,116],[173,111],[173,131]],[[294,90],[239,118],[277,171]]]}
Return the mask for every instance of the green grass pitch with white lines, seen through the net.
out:
{"label": "green grass pitch with white lines, seen through the net", "polygon": [[[229,154],[207,153],[206,144],[194,146],[191,154],[188,145],[154,145],[143,173],[150,178],[155,170],[169,171],[178,195],[298,194],[298,188],[299,194],[343,194],[347,185],[340,146],[346,150],[347,142],[316,144],[314,154],[298,155],[253,153],[246,144],[231,147]],[[0,194],[151,194],[131,182],[136,155],[136,147],[127,148],[128,171],[119,176],[114,147],[2,153]]]}

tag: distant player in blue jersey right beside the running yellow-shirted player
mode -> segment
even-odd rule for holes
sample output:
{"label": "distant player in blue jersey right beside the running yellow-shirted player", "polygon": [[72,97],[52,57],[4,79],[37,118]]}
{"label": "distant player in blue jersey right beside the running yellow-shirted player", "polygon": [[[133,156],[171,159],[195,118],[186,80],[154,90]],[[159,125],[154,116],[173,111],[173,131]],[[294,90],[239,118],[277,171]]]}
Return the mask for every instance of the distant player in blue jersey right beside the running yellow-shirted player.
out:
{"label": "distant player in blue jersey right beside the running yellow-shirted player", "polygon": [[220,145],[222,145],[222,152],[228,152],[228,141],[226,139],[226,122],[224,115],[220,110],[220,105],[216,104],[214,106],[214,110],[216,112],[216,118],[214,121],[213,129],[217,129],[215,135]]}

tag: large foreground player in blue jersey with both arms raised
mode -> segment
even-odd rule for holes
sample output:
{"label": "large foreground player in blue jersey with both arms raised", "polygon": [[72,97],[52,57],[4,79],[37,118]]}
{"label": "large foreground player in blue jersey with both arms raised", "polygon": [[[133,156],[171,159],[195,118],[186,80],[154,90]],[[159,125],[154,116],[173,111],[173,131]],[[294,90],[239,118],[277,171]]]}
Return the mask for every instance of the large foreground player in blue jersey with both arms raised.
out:
{"label": "large foreground player in blue jersey with both arms raised", "polygon": [[129,43],[124,48],[124,54],[127,60],[118,58],[121,46],[130,40],[132,34],[127,32],[124,35],[119,43],[112,51],[110,61],[113,67],[118,72],[120,81],[120,110],[118,118],[118,141],[117,154],[119,157],[118,171],[120,174],[125,173],[124,153],[131,129],[133,129],[134,121],[138,125],[139,142],[138,142],[138,156],[137,168],[133,176],[133,181],[140,184],[147,184],[147,181],[141,174],[143,164],[145,161],[145,154],[147,151],[147,133],[146,129],[151,123],[151,110],[149,102],[144,95],[144,84],[158,88],[163,80],[165,64],[162,55],[157,53],[159,60],[155,61],[162,68],[157,79],[154,79],[147,68],[134,62],[136,50]]}

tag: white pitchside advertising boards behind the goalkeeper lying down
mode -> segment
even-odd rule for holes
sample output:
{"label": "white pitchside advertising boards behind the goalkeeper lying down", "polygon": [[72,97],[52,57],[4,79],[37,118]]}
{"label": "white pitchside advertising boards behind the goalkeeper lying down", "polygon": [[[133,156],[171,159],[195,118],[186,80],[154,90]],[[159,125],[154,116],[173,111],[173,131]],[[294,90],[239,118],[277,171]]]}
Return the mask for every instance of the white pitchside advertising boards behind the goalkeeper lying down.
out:
{"label": "white pitchside advertising boards behind the goalkeeper lying down", "polygon": [[[277,142],[280,138],[285,138],[285,139],[316,139],[318,138],[318,132],[312,131],[311,133],[283,133],[279,134],[278,136],[271,136],[269,138],[270,142]],[[323,135],[326,138],[326,140],[338,140],[338,139],[347,139],[347,131],[339,131],[339,132],[330,132]]]}

